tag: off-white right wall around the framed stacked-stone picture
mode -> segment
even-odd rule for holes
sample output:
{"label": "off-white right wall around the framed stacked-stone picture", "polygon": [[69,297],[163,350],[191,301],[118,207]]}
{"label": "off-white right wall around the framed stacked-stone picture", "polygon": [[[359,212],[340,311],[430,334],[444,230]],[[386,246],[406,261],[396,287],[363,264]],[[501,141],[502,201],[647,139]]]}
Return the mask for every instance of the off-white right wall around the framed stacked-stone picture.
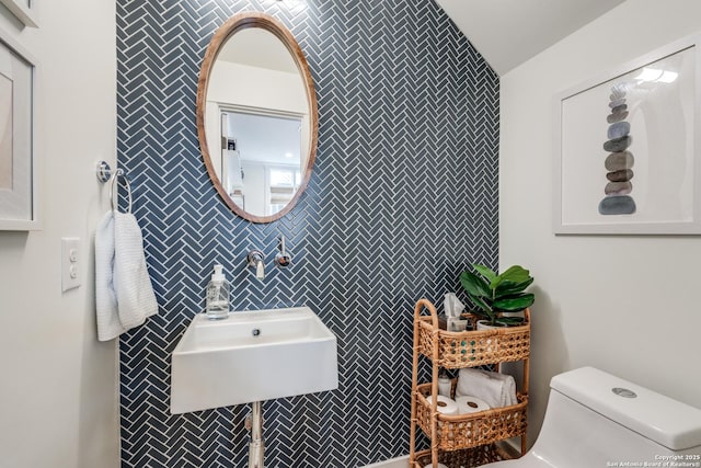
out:
{"label": "off-white right wall around the framed stacked-stone picture", "polygon": [[531,441],[550,378],[585,365],[701,408],[701,237],[551,228],[553,95],[697,31],[701,2],[628,0],[502,78],[499,262],[529,267],[538,293]]}

